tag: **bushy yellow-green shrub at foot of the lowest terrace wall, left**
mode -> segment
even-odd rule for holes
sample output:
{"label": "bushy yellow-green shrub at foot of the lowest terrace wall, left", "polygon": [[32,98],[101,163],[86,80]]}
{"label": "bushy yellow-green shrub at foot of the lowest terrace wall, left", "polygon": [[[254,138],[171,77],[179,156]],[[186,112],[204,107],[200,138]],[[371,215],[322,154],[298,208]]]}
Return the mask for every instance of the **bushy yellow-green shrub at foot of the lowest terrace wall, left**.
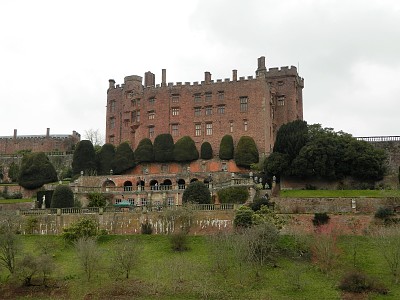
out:
{"label": "bushy yellow-green shrub at foot of the lowest terrace wall, left", "polygon": [[98,223],[92,218],[81,218],[63,230],[63,238],[66,241],[74,242],[80,238],[96,236],[98,234]]}

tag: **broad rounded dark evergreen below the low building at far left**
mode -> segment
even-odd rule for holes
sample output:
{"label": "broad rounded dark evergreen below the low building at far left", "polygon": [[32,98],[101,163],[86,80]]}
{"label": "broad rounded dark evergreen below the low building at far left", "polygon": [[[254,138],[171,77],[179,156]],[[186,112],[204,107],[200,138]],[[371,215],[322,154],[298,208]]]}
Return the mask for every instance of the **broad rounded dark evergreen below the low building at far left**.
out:
{"label": "broad rounded dark evergreen below the low building at far left", "polygon": [[36,189],[57,181],[57,172],[43,152],[28,153],[22,158],[18,183],[26,189]]}

